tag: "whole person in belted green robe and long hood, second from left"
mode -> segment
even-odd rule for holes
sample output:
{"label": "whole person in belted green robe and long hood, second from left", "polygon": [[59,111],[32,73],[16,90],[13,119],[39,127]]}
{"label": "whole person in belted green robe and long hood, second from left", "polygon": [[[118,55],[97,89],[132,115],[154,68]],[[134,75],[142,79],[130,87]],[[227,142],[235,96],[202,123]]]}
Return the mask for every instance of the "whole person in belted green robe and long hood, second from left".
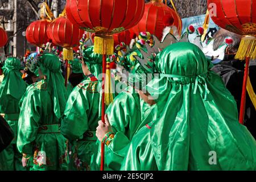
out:
{"label": "whole person in belted green robe and long hood, second from left", "polygon": [[43,80],[28,86],[20,101],[17,147],[31,171],[67,170],[68,140],[60,133],[67,91],[57,56],[38,57]]}

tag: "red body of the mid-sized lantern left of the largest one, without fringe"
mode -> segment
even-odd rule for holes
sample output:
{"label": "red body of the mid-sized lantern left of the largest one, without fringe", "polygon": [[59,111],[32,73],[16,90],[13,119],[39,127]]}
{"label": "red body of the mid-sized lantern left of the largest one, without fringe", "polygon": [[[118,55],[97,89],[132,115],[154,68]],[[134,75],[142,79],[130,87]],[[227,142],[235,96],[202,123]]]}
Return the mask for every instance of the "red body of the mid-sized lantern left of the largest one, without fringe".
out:
{"label": "red body of the mid-sized lantern left of the largest one, without fringe", "polygon": [[84,31],[75,26],[65,16],[53,20],[48,28],[47,35],[57,46],[73,48],[79,46],[79,40]]}

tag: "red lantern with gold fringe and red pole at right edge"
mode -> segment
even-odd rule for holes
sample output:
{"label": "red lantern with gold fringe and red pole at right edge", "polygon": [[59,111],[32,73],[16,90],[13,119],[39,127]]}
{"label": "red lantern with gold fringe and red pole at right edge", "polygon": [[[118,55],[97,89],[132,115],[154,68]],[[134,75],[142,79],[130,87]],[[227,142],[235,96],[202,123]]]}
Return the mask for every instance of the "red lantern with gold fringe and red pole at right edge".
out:
{"label": "red lantern with gold fringe and red pole at right edge", "polygon": [[246,87],[249,95],[253,95],[250,93],[253,92],[253,90],[249,89],[252,87],[248,85],[250,81],[247,82],[247,78],[249,76],[249,61],[250,59],[256,59],[255,6],[256,1],[254,0],[208,0],[208,9],[213,22],[221,28],[242,35],[240,47],[235,57],[235,59],[246,60],[240,108],[240,123],[243,123],[244,119]]}

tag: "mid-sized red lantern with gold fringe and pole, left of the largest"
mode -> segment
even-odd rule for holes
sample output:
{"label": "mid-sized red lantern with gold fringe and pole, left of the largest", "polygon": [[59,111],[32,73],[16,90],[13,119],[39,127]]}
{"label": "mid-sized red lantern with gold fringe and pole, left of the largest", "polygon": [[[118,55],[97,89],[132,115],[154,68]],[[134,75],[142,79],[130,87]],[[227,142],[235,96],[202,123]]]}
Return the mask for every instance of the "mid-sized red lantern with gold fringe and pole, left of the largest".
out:
{"label": "mid-sized red lantern with gold fringe and pole, left of the largest", "polygon": [[53,44],[63,47],[63,60],[66,61],[66,77],[65,86],[67,86],[70,73],[70,64],[68,61],[73,60],[73,48],[80,45],[79,41],[82,38],[84,31],[66,17],[65,10],[60,14],[59,18],[53,20],[48,28],[47,35],[52,40]]}

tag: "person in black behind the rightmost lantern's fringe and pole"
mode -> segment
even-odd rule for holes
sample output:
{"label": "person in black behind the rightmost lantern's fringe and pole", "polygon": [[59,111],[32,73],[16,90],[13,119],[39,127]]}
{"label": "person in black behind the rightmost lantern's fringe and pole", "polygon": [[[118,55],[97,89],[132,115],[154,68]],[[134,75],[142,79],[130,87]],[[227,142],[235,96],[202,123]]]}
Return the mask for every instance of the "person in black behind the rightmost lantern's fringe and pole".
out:
{"label": "person in black behind the rightmost lantern's fringe and pole", "polygon": [[[238,47],[241,42],[241,35],[234,34],[224,29],[220,29],[214,34],[213,48],[218,49],[225,43],[225,38],[229,36],[232,40],[232,44],[225,50],[225,59],[220,64],[215,65],[212,71],[216,72],[222,77],[226,88],[232,93],[234,99],[237,102],[237,109],[240,110],[242,85],[243,85],[243,72],[245,71],[245,61],[235,60]],[[249,65],[249,78],[256,76],[256,61],[250,61]],[[250,79],[251,85],[256,90],[255,79]],[[246,94],[245,102],[245,118],[244,125],[248,128],[250,133],[256,138],[256,103],[253,104],[249,94]]]}

